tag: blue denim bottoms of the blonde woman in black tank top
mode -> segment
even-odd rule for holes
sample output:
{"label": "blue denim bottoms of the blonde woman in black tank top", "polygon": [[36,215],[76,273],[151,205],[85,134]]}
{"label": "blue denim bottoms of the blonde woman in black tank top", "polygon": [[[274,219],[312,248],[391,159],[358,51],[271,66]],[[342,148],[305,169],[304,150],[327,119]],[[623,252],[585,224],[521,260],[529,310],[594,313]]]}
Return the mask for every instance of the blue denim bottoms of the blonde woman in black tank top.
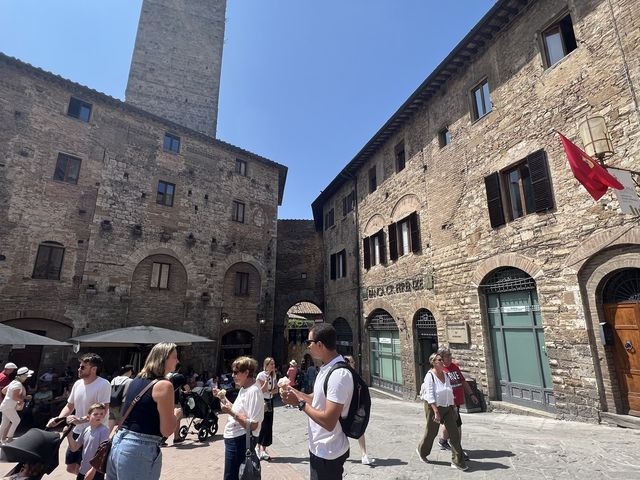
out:
{"label": "blue denim bottoms of the blonde woman in black tank top", "polygon": [[158,480],[162,468],[162,437],[121,428],[113,437],[107,462],[108,480]]}

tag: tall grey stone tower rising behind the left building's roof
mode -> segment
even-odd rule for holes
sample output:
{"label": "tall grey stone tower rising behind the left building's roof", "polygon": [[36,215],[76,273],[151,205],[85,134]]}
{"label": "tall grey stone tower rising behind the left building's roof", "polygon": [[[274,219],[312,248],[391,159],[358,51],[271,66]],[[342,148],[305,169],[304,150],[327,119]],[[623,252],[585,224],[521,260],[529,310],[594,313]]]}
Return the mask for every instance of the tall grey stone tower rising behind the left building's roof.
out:
{"label": "tall grey stone tower rising behind the left building's roof", "polygon": [[216,135],[226,0],[143,0],[126,101]]}

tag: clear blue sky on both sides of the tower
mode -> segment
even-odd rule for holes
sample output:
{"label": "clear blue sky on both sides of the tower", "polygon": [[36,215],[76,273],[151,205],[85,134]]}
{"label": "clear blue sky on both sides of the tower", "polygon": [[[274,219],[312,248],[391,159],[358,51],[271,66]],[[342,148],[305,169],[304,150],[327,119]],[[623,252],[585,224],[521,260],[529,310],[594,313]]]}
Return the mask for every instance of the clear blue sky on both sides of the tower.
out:
{"label": "clear blue sky on both sides of the tower", "polygon": [[[494,0],[228,0],[218,138],[311,202]],[[124,99],[142,0],[0,0],[0,51]]]}

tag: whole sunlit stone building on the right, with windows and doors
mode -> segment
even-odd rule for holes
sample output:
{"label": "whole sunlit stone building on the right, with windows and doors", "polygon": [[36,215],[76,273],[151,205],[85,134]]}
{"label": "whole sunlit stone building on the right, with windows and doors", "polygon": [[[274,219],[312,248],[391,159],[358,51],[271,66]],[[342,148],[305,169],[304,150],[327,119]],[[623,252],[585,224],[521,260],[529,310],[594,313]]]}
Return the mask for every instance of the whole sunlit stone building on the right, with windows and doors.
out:
{"label": "whole sunlit stone building on the right, with windows and doors", "polygon": [[491,401],[640,415],[640,222],[556,133],[603,117],[637,171],[638,52],[634,1],[498,1],[316,199],[326,319],[372,385],[415,398],[448,345]]}

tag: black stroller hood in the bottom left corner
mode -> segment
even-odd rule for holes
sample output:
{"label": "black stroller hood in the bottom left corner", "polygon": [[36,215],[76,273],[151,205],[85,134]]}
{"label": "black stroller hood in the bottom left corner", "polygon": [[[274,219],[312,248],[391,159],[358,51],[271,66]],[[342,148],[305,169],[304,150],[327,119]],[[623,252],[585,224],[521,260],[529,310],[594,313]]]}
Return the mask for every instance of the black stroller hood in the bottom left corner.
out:
{"label": "black stroller hood in the bottom left corner", "polygon": [[6,476],[20,474],[20,478],[40,480],[45,474],[49,475],[58,466],[60,444],[72,428],[73,425],[66,426],[62,435],[32,428],[13,442],[3,445],[0,461],[17,462]]}

